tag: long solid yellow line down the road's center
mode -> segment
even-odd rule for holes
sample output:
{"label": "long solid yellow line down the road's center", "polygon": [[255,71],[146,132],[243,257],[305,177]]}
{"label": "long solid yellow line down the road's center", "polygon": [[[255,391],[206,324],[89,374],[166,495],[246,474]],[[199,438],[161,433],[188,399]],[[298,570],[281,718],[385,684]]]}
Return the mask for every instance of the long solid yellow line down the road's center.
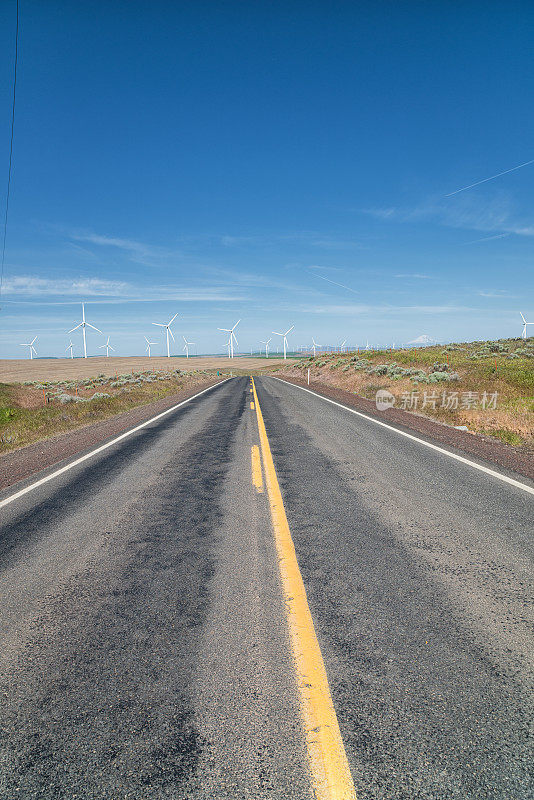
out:
{"label": "long solid yellow line down the road's center", "polygon": [[323,656],[297,563],[256,386],[254,379],[251,380],[313,789],[317,800],[355,800]]}

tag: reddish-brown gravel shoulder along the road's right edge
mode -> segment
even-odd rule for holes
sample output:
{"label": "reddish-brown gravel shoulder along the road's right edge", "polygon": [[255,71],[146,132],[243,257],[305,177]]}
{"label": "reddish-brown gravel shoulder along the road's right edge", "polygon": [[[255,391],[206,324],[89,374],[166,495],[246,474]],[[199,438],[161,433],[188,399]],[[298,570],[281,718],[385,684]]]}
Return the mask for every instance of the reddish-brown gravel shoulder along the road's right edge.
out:
{"label": "reddish-brown gravel shoulder along the road's right edge", "polygon": [[[298,378],[284,376],[283,380],[308,388],[306,381]],[[381,421],[392,423],[395,427],[408,431],[417,431],[422,435],[422,438],[429,441],[439,442],[445,446],[448,445],[462,450],[470,456],[484,461],[491,461],[506,470],[512,470],[534,480],[534,450],[530,448],[512,447],[497,441],[491,436],[459,431],[449,425],[435,422],[428,417],[410,411],[401,411],[395,408],[378,411],[374,401],[366,400],[364,397],[352,394],[344,389],[326,386],[318,381],[310,381],[309,388],[318,394],[336,400],[338,403],[343,403],[349,408],[362,411]]]}

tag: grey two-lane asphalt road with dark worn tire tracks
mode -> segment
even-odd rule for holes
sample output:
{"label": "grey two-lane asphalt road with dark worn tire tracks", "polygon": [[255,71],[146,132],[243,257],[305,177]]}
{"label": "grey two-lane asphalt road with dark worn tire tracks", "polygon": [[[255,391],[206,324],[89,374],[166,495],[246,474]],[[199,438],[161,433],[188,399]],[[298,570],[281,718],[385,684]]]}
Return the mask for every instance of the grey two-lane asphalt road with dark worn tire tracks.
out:
{"label": "grey two-lane asphalt road with dark worn tire tracks", "polygon": [[[532,495],[256,388],[358,798],[533,797]],[[313,797],[251,399],[1,509],[1,798]]]}

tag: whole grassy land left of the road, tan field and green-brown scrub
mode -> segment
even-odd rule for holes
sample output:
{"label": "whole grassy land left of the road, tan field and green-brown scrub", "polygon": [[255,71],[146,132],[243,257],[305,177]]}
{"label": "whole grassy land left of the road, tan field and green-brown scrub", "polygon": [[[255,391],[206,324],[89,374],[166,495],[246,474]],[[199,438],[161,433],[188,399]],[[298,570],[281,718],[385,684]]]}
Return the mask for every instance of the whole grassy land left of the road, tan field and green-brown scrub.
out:
{"label": "whole grassy land left of the road, tan field and green-brown scrub", "polygon": [[280,366],[265,358],[88,358],[0,362],[0,453],[108,419],[227,375]]}

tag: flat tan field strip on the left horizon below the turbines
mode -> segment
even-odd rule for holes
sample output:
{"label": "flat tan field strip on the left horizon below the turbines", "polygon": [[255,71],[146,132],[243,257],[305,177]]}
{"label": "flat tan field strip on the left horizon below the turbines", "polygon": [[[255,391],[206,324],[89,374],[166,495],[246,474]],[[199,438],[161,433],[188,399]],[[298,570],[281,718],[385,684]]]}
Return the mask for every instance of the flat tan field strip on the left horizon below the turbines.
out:
{"label": "flat tan field strip on the left horizon below the turbines", "polygon": [[62,381],[83,380],[96,375],[115,375],[127,372],[148,372],[150,370],[175,370],[193,372],[195,370],[257,371],[263,367],[280,366],[281,358],[250,358],[239,356],[230,360],[223,356],[195,356],[180,358],[173,356],[125,356],[106,358],[34,358],[0,360],[1,383],[23,383],[24,381]]}

